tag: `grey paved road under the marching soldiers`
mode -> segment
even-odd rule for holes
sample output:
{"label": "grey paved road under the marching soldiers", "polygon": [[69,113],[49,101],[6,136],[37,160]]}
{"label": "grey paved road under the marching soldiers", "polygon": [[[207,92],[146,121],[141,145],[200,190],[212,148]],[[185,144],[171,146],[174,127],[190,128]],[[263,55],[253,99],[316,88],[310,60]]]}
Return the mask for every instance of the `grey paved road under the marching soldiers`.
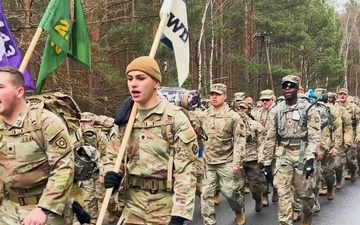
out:
{"label": "grey paved road under the marching soldiers", "polygon": [[[314,225],[359,225],[360,224],[360,179],[356,183],[345,181],[342,190],[336,191],[335,199],[329,202],[320,197],[321,212],[314,217]],[[188,225],[203,225],[200,213],[200,201],[196,199],[194,221]],[[277,204],[270,203],[261,213],[255,213],[254,201],[246,195],[246,225],[277,225]],[[236,225],[235,214],[231,211],[226,199],[216,206],[218,225]],[[104,223],[105,224],[105,223]],[[295,225],[300,222],[295,223]],[[106,224],[108,225],[108,224]]]}

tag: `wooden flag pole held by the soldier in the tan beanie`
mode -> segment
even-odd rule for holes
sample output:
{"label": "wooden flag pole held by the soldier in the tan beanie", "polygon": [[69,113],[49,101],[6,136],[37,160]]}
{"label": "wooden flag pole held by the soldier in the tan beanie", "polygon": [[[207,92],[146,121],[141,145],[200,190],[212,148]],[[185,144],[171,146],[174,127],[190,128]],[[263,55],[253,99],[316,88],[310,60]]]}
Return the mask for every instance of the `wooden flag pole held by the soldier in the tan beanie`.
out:
{"label": "wooden flag pole held by the soldier in the tan beanie", "polygon": [[[165,27],[168,19],[169,19],[169,14],[163,13],[162,16],[161,16],[159,27],[158,27],[158,29],[156,31],[154,42],[153,42],[153,44],[151,46],[150,54],[149,54],[149,56],[152,57],[152,58],[155,57],[156,50],[159,47],[162,32],[164,30],[164,27]],[[131,110],[129,122],[128,122],[127,126],[126,126],[124,137],[123,137],[123,140],[121,142],[119,153],[118,153],[118,155],[116,157],[115,166],[114,166],[114,171],[115,172],[119,171],[122,160],[124,158],[125,149],[126,149],[127,143],[129,141],[129,138],[130,138],[132,127],[134,126],[136,113],[137,113],[137,104],[134,103],[134,106],[133,106],[133,108]],[[105,217],[106,209],[107,209],[108,204],[110,202],[112,192],[113,192],[113,188],[106,189],[104,201],[103,201],[103,203],[101,205],[101,209],[100,209],[99,217],[98,217],[98,219],[96,221],[96,225],[102,225],[102,222],[103,222],[104,217]]]}

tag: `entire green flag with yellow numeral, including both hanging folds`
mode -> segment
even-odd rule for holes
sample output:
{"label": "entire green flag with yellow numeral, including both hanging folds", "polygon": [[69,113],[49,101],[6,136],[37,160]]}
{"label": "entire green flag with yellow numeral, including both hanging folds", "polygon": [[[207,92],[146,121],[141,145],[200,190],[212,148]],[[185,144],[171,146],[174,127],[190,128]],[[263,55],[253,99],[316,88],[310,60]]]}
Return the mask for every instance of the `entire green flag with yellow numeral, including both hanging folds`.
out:
{"label": "entire green flag with yellow numeral, including both hanging folds", "polygon": [[49,33],[36,83],[36,94],[41,93],[45,79],[66,57],[85,67],[91,67],[90,40],[81,0],[75,0],[74,24],[70,20],[70,0],[51,0],[40,22]]}

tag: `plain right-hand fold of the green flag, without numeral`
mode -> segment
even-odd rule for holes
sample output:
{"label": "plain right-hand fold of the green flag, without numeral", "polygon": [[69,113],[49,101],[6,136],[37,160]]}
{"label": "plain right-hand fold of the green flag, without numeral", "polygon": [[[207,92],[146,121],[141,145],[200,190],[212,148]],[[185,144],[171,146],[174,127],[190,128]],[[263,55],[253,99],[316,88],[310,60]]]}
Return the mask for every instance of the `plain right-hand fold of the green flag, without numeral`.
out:
{"label": "plain right-hand fold of the green flag, without numeral", "polygon": [[81,0],[75,0],[75,22],[71,32],[71,49],[68,56],[91,69],[91,48]]}

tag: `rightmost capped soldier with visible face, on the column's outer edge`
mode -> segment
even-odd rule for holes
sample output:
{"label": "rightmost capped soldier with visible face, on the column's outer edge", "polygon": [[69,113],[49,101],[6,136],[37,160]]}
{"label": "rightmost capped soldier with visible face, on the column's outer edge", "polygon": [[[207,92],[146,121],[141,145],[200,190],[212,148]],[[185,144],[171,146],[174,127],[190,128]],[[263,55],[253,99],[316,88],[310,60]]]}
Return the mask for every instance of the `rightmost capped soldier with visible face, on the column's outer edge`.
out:
{"label": "rightmost capped soldier with visible face, on the column's outer edge", "polygon": [[[332,93],[329,92],[328,93],[328,104],[329,105],[334,105],[336,103],[336,93]],[[343,130],[343,140],[341,142],[341,151],[340,151],[340,156],[342,158],[342,165],[339,167],[335,167],[335,174],[336,174],[336,189],[340,190],[343,187],[343,182],[342,182],[342,178],[343,178],[343,172],[344,172],[344,162],[346,162],[346,155],[345,155],[345,150],[346,149],[350,149],[353,140],[354,140],[354,134],[353,134],[353,128],[352,128],[352,124],[351,124],[351,117],[350,114],[347,112],[347,110],[340,106],[340,105],[336,105],[335,107],[336,109],[339,110],[339,114],[341,117],[341,122],[342,122],[342,130]]]}

